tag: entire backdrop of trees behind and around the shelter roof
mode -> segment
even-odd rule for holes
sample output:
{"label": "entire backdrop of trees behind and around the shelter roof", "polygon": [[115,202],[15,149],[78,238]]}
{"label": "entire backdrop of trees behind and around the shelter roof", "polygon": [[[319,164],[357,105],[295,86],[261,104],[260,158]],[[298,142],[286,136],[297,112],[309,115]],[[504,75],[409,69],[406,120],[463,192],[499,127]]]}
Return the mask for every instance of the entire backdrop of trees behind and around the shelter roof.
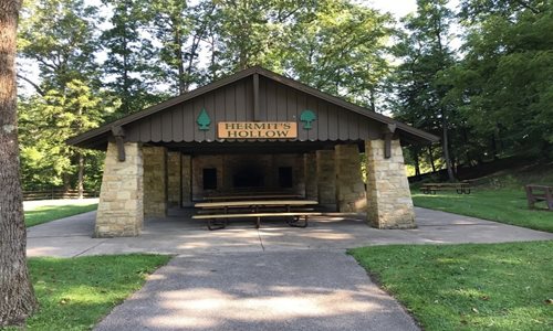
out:
{"label": "entire backdrop of trees behind and around the shelter roof", "polygon": [[102,156],[69,135],[252,65],[440,136],[406,152],[418,172],[553,153],[551,1],[418,0],[400,20],[353,0],[94,3],[24,2],[27,189],[97,188]]}

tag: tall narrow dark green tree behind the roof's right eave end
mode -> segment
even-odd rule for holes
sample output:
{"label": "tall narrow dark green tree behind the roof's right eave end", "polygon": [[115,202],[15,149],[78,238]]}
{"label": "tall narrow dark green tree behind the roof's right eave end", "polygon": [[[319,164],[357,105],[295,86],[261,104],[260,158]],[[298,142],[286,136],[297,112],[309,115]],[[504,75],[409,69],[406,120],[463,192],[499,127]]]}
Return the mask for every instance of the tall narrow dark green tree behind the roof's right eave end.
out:
{"label": "tall narrow dark green tree behind the roof's right eave end", "polygon": [[[446,4],[445,0],[418,0],[417,13],[405,19],[407,31],[396,45],[396,56],[403,64],[394,82],[397,90],[394,113],[398,119],[441,136],[446,169],[449,180],[453,180],[451,130],[457,121],[455,107],[447,97],[452,87],[445,77],[455,65],[448,46],[453,15]],[[418,157],[418,151],[411,150],[411,154]]]}

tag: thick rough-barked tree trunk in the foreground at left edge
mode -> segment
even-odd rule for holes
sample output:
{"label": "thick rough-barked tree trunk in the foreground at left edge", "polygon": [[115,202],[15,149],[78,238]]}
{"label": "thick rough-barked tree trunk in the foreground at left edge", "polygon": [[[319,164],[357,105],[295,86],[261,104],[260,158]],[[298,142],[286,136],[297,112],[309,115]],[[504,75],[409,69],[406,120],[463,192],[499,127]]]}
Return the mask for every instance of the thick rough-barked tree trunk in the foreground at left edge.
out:
{"label": "thick rough-barked tree trunk in the foreground at left edge", "polygon": [[0,0],[0,327],[22,324],[38,302],[27,268],[19,173],[15,35],[21,1]]}

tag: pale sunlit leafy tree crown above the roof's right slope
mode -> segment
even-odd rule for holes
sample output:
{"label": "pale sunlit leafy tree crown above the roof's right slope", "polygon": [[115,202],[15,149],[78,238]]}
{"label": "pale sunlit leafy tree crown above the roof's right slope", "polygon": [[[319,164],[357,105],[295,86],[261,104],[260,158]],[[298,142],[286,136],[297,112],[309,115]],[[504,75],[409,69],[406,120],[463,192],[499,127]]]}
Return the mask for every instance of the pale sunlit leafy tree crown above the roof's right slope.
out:
{"label": "pale sunlit leafy tree crown above the roof's right slope", "polygon": [[302,83],[376,111],[389,72],[393,20],[352,1],[316,1],[294,15],[282,61]]}

